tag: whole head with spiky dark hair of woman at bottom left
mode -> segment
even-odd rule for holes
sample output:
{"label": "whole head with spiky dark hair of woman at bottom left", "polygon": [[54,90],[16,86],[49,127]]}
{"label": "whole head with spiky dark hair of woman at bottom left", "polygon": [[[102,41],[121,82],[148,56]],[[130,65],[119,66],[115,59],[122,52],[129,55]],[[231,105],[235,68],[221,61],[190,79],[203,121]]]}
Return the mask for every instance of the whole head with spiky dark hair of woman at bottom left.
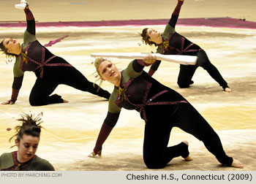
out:
{"label": "whole head with spiky dark hair of woman at bottom left", "polygon": [[21,126],[16,126],[16,134],[10,138],[15,139],[15,145],[18,147],[18,161],[21,163],[29,161],[34,157],[39,145],[41,128],[40,120],[42,113],[34,118],[34,115],[23,114],[21,116]]}

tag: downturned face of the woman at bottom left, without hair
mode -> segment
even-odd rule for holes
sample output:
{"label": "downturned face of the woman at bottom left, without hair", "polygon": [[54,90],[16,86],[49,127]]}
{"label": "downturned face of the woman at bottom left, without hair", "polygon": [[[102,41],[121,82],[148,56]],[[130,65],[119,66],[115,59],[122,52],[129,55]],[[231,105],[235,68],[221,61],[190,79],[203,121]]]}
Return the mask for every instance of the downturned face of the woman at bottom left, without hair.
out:
{"label": "downturned face of the woman at bottom left, without hair", "polygon": [[18,161],[21,163],[29,161],[37,152],[39,145],[39,137],[23,134],[20,142],[15,140],[15,145],[18,146]]}

